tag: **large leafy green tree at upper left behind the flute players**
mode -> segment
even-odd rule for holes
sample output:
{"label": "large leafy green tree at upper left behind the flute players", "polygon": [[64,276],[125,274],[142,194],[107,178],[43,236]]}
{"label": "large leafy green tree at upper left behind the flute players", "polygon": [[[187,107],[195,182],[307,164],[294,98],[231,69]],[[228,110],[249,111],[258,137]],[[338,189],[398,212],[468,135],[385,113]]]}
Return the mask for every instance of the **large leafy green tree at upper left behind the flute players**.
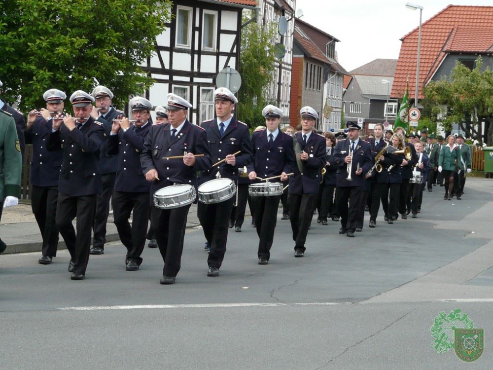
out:
{"label": "large leafy green tree at upper left behind the flute players", "polygon": [[44,106],[55,87],[69,96],[97,82],[122,106],[152,84],[141,66],[170,19],[169,0],[1,1],[3,96],[20,108]]}

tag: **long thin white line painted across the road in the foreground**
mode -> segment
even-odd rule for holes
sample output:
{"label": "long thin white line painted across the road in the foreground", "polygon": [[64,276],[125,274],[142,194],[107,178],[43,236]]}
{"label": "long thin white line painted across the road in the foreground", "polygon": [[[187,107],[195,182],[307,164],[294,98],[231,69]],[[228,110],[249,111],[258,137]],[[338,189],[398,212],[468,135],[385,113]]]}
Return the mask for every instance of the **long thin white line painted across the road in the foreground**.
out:
{"label": "long thin white line painted across the road in the foreground", "polygon": [[196,304],[136,304],[128,306],[79,306],[62,307],[61,311],[98,311],[98,310],[134,310],[149,308],[229,308],[229,307],[286,307],[298,306],[335,306],[352,304],[351,302],[307,302],[307,303],[196,303]]}

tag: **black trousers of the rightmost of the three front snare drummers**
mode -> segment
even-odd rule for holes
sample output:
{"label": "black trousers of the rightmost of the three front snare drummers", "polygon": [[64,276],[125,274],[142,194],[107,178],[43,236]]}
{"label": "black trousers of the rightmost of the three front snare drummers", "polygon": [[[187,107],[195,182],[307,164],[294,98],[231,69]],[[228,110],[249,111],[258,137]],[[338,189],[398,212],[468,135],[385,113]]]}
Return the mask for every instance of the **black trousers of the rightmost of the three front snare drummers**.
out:
{"label": "black trousers of the rightmost of the three front snare drummers", "polygon": [[257,256],[269,260],[270,250],[274,242],[274,230],[277,224],[279,208],[278,196],[256,196],[252,198],[255,207],[255,226],[259,238]]}

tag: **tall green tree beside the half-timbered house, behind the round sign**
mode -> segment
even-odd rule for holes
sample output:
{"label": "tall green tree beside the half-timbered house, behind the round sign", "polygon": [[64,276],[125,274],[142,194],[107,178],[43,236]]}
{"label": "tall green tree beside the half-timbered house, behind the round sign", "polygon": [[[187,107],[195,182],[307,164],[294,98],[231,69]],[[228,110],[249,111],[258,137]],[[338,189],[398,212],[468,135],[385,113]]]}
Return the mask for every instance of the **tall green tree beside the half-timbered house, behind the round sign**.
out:
{"label": "tall green tree beside the half-timbered house, behind the round sign", "polygon": [[[245,12],[244,22],[252,16],[253,12]],[[275,26],[268,25],[263,30],[253,22],[242,29],[239,71],[242,87],[238,91],[237,117],[249,127],[265,122],[262,109],[271,103],[266,99],[266,90],[275,77]]]}

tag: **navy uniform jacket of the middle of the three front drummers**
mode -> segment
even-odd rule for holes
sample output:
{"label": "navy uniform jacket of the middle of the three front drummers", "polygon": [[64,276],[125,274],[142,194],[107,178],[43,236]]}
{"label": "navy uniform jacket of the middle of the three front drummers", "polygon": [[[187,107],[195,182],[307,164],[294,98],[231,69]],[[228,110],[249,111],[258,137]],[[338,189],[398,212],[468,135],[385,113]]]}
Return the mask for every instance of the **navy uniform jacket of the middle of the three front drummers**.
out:
{"label": "navy uniform jacket of the middle of the three front drummers", "polygon": [[221,177],[227,177],[233,181],[238,180],[238,167],[250,164],[253,159],[248,126],[233,117],[222,138],[217,126],[217,119],[204,121],[201,123],[201,127],[206,130],[207,142],[212,156],[211,167],[212,164],[224,159],[228,154],[236,153],[238,150],[241,150],[241,153],[236,155],[235,166],[223,162],[216,168],[206,168],[199,176],[199,184],[215,179],[217,171],[220,171]]}

